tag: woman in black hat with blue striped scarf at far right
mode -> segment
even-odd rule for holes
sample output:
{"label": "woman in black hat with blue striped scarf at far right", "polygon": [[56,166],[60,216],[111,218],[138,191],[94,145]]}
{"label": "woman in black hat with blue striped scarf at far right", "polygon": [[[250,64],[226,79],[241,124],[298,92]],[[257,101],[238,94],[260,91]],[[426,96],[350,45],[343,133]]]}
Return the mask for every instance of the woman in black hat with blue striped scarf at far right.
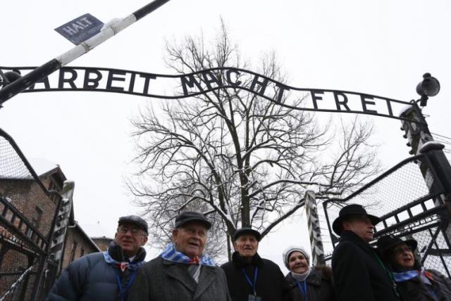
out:
{"label": "woman in black hat with blue striped scarf at far right", "polygon": [[433,269],[421,267],[414,255],[416,241],[383,236],[378,252],[393,270],[393,278],[402,300],[451,301],[451,280]]}

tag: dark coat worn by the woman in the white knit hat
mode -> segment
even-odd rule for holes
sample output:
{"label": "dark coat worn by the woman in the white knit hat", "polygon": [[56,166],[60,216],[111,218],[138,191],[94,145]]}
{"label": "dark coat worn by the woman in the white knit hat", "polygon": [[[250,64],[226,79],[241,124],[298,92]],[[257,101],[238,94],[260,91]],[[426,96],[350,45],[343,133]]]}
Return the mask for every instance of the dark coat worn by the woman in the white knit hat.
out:
{"label": "dark coat worn by the woman in the white knit hat", "polygon": [[[294,301],[304,301],[304,295],[299,291],[296,279],[291,273],[287,276],[288,285]],[[332,279],[323,274],[319,269],[311,269],[306,279],[307,283],[307,300],[308,301],[333,301],[335,293],[333,291]]]}

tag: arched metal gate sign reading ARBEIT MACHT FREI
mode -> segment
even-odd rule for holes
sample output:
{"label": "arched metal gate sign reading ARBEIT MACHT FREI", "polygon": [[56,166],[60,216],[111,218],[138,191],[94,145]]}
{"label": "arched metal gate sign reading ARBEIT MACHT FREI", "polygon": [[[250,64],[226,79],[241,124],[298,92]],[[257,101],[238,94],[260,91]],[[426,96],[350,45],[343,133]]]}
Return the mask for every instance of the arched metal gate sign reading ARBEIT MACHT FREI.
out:
{"label": "arched metal gate sign reading ARBEIT MACHT FREI", "polygon": [[[34,68],[0,67],[20,70]],[[38,91],[107,91],[150,98],[187,98],[217,93],[220,89],[240,89],[293,110],[377,115],[399,120],[399,113],[412,107],[407,101],[330,89],[288,86],[256,72],[238,68],[212,68],[189,74],[159,75],[111,68],[64,67],[32,84],[23,93]],[[412,120],[409,120],[412,121]],[[413,121],[416,122],[416,121]],[[421,123],[421,122],[420,122]]]}

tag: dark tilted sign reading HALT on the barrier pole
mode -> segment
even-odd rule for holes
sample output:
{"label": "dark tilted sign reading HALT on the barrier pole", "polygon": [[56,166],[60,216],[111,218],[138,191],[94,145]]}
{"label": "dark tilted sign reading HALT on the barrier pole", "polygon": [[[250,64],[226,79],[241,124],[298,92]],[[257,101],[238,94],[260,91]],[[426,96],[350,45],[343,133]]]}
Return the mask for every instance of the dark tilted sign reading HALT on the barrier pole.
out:
{"label": "dark tilted sign reading HALT on the barrier pole", "polygon": [[89,13],[85,13],[85,15],[81,15],[64,25],[55,28],[55,30],[73,44],[78,45],[98,34],[103,26],[104,23],[99,19]]}

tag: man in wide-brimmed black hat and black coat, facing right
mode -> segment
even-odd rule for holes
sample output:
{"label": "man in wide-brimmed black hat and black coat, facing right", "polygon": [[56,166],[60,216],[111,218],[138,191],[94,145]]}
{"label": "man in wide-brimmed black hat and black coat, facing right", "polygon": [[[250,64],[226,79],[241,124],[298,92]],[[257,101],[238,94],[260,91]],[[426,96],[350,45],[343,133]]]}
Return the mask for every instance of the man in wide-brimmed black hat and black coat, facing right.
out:
{"label": "man in wide-brimmed black hat and black coat, facing right", "polygon": [[369,245],[378,222],[381,219],[357,204],[343,207],[333,221],[333,231],[340,236],[332,255],[338,301],[400,300],[390,271]]}

